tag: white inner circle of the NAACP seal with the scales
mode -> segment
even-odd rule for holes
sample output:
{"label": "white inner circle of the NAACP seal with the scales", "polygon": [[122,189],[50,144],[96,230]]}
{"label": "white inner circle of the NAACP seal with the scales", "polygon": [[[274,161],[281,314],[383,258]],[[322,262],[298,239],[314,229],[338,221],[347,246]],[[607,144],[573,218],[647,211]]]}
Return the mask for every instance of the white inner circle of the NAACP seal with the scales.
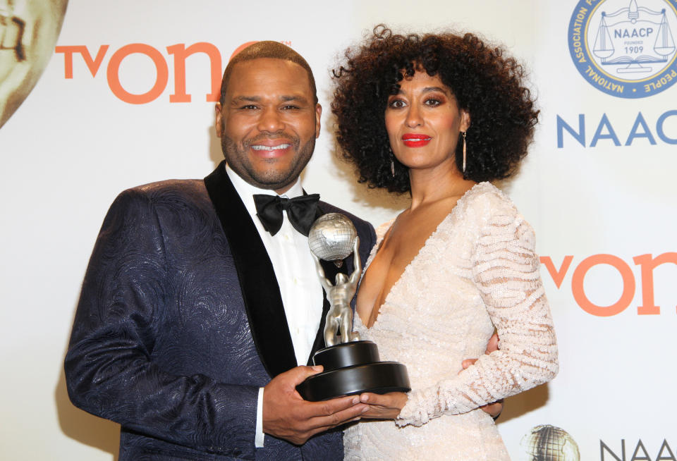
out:
{"label": "white inner circle of the NAACP seal with the scales", "polygon": [[[666,6],[663,2],[658,3]],[[669,66],[675,54],[670,23],[675,25],[677,16],[673,9],[654,10],[647,5],[659,6],[655,0],[645,0],[642,6],[631,0],[625,8],[601,12],[592,47],[599,66],[613,69],[611,71],[630,80],[646,78],[648,73],[659,73]],[[591,29],[592,24],[591,21]]]}

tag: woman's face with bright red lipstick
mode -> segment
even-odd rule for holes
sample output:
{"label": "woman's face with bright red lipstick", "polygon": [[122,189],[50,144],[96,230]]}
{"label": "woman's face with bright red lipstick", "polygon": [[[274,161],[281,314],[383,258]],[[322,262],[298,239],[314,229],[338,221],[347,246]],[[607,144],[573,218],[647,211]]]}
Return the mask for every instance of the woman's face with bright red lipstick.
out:
{"label": "woman's face with bright red lipstick", "polygon": [[470,116],[458,109],[456,97],[438,75],[425,71],[400,82],[398,94],[388,98],[386,130],[398,161],[411,169],[444,166],[456,169],[454,152]]}

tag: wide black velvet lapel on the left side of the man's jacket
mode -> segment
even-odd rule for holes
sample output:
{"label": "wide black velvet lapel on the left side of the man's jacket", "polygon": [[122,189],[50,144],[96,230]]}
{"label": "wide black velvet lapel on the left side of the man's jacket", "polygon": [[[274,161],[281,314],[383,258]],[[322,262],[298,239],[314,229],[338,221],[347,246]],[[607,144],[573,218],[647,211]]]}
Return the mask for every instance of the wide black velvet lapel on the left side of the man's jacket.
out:
{"label": "wide black velvet lapel on the left side of the man's jacket", "polygon": [[231,248],[254,343],[273,378],[296,366],[294,346],[273,265],[224,163],[205,178],[205,185]]}

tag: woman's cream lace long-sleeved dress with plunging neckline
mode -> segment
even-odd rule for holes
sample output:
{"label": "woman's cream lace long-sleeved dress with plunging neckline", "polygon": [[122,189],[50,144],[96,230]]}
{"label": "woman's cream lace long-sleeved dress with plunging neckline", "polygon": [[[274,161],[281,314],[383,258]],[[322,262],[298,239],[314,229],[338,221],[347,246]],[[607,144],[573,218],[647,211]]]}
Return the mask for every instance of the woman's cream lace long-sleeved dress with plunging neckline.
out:
{"label": "woman's cream lace long-sleeved dress with plunging neckline", "polygon": [[[377,230],[378,242],[391,223]],[[484,355],[494,331],[500,350]],[[407,366],[398,419],[348,427],[346,460],[509,460],[480,405],[549,381],[557,345],[534,233],[510,199],[480,183],[458,200],[406,267],[372,328],[355,331]],[[480,357],[465,371],[463,359]],[[461,371],[461,373],[459,373]]]}

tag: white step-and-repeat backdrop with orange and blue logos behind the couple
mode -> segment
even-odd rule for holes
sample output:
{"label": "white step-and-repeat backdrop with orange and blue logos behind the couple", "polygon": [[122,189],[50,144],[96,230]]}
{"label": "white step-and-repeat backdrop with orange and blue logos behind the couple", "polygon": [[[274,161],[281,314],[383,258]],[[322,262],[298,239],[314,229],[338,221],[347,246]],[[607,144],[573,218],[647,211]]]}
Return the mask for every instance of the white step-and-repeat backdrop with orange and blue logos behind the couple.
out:
{"label": "white step-and-repeat backdrop with orange and blue logos behind the couple", "polygon": [[514,460],[677,460],[677,0],[0,0],[0,457],[111,460],[119,427],[68,401],[87,259],[121,190],[202,178],[233,52],[271,39],[315,70],[305,188],[378,225],[406,197],[336,159],[330,70],[378,23],[477,32],[530,69],[541,118],[501,183],[537,233],[561,371],[506,400]]}

